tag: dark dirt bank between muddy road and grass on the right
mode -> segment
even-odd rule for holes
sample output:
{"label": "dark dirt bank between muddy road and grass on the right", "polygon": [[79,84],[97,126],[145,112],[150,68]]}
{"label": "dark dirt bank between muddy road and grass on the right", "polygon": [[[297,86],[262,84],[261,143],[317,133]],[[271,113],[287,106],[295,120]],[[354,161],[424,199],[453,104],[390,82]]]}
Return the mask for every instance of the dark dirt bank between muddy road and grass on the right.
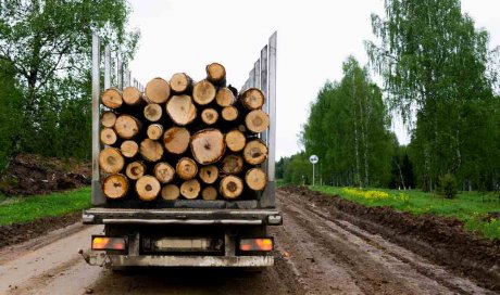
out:
{"label": "dark dirt bank between muddy road and grass on the right", "polygon": [[314,206],[335,210],[341,219],[382,234],[490,290],[500,291],[500,241],[491,242],[465,231],[463,222],[458,219],[414,216],[389,207],[365,207],[307,188],[290,187],[284,191],[300,195]]}

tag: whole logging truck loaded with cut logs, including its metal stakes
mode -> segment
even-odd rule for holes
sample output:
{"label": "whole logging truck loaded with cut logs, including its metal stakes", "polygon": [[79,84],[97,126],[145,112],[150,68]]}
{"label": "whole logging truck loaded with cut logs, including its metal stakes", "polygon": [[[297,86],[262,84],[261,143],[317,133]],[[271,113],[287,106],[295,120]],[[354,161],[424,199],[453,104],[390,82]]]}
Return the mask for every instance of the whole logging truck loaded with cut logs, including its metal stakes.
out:
{"label": "whole logging truck loaded with cut logs, including its metal stakes", "polygon": [[276,42],[274,33],[239,91],[218,63],[198,81],[175,73],[142,87],[118,61],[114,78],[107,47],[101,89],[93,36],[92,191],[83,222],[103,232],[80,252],[88,264],[273,266],[267,227],[283,222],[274,178]]}

